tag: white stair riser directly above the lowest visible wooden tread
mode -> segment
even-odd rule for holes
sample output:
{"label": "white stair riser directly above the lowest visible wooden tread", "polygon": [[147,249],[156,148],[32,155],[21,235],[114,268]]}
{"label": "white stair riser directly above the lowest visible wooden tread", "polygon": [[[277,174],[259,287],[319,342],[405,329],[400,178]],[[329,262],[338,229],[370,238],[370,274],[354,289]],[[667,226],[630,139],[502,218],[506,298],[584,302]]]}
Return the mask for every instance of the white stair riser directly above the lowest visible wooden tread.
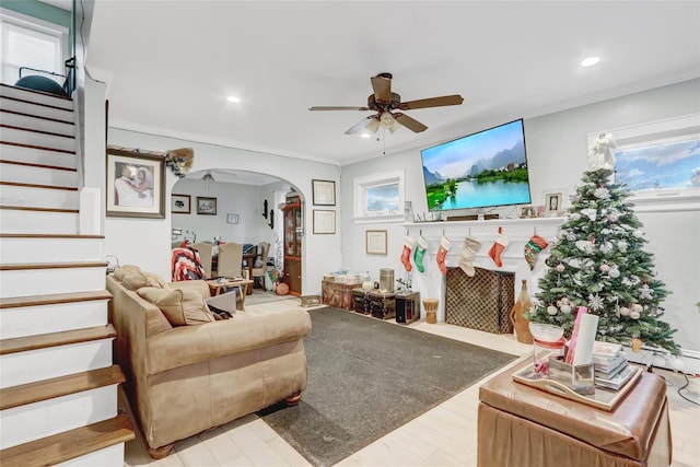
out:
{"label": "white stair riser directly above the lowest visible wooden tread", "polygon": [[0,448],[116,417],[117,386],[106,386],[0,411]]}

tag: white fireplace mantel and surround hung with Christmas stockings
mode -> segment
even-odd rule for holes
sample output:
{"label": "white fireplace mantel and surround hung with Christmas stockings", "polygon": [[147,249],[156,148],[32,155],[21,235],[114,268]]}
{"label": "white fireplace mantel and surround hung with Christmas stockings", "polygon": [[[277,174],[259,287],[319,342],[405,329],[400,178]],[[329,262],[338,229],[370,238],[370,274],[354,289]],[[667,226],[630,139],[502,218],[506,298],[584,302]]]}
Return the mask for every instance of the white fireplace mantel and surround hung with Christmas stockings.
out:
{"label": "white fireplace mantel and surround hung with Christmas stockings", "polygon": [[[428,241],[428,250],[423,257],[425,272],[419,272],[413,267],[411,275],[412,289],[420,292],[421,300],[439,299],[438,320],[445,320],[445,277],[436,267],[438,248],[444,235],[452,243],[445,266],[447,268],[459,265],[459,253],[466,236],[471,236],[481,243],[474,259],[474,266],[494,271],[506,271],[515,273],[515,296],[520,293],[522,280],[527,280],[527,289],[533,296],[538,291],[537,282],[545,275],[545,258],[549,256],[549,247],[537,255],[535,269],[529,270],[529,265],[525,260],[525,244],[537,234],[551,245],[557,237],[559,227],[564,222],[564,218],[538,218],[538,219],[493,219],[485,221],[442,221],[442,222],[420,222],[405,223],[407,235],[418,238],[422,235]],[[493,245],[499,227],[502,235],[510,241],[501,254],[503,265],[498,267],[489,256],[489,249]],[[421,306],[422,308],[422,306]],[[422,308],[421,317],[425,317]]]}

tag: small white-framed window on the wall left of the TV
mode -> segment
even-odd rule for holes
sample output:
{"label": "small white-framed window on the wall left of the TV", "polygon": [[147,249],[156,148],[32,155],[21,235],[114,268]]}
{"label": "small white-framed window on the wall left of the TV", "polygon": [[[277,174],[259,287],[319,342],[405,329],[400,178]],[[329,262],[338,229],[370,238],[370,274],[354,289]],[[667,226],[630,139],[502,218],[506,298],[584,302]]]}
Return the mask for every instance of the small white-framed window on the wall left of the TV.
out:
{"label": "small white-framed window on the wall left of the TV", "polygon": [[354,221],[404,220],[404,172],[354,179]]}

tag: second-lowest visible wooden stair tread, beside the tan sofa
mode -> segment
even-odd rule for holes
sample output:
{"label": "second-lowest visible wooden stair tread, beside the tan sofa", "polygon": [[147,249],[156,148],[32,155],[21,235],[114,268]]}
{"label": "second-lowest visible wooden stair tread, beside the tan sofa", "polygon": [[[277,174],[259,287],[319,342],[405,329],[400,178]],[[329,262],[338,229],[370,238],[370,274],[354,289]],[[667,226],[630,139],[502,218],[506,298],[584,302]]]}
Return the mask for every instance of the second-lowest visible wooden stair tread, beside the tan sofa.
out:
{"label": "second-lowest visible wooden stair tread, beside the tan sofa", "polygon": [[104,369],[5,387],[0,389],[0,395],[2,396],[0,398],[0,410],[121,384],[125,380],[121,369],[115,364]]}

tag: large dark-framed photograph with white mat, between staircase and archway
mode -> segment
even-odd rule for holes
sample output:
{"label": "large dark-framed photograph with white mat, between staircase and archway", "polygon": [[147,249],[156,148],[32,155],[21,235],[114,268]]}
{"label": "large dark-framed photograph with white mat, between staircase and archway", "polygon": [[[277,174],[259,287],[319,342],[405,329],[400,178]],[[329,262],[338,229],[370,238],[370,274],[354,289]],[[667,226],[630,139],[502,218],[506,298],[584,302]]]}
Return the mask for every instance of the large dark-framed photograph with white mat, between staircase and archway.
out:
{"label": "large dark-framed photograph with white mat, between staircase and archway", "polygon": [[165,161],[160,152],[107,147],[107,217],[165,218]]}

